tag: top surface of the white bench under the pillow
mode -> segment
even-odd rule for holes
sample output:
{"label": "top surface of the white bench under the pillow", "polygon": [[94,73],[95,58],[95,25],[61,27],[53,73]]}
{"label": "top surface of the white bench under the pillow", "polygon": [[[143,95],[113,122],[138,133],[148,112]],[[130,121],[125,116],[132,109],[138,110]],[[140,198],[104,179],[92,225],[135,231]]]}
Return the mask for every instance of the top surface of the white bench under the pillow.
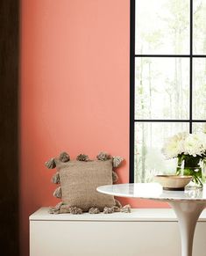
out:
{"label": "top surface of the white bench under the pillow", "polygon": [[[82,215],[48,213],[48,208],[39,208],[30,217],[30,221],[84,221],[84,222],[177,222],[177,218],[172,208],[133,208],[131,213],[112,213],[91,215],[84,213]],[[206,222],[206,209],[198,220]]]}

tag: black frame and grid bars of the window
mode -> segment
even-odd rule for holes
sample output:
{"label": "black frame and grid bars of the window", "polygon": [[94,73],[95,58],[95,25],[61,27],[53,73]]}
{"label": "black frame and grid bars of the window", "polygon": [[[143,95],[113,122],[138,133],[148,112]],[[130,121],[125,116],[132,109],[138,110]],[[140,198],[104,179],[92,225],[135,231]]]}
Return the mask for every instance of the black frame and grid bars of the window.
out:
{"label": "black frame and grid bars of the window", "polygon": [[[135,7],[136,1],[130,2],[130,182],[134,182],[134,126],[136,122],[187,122],[189,124],[189,133],[192,133],[192,124],[197,122],[206,122],[206,120],[194,120],[193,112],[193,59],[206,58],[206,55],[193,54],[193,0],[189,1],[189,54],[188,55],[136,55],[135,54]],[[144,1],[144,0],[142,0]],[[181,0],[180,0],[181,1]],[[189,118],[188,120],[142,120],[135,119],[135,59],[144,57],[181,57],[189,59]]]}

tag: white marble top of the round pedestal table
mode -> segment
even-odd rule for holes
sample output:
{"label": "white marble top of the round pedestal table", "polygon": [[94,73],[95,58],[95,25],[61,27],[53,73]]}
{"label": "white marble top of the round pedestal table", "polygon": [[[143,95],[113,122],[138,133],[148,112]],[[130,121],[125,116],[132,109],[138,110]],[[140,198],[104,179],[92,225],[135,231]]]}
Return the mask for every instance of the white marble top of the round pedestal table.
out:
{"label": "white marble top of the round pedestal table", "polygon": [[202,189],[185,188],[184,191],[163,190],[159,183],[128,183],[97,187],[98,192],[120,197],[159,201],[206,201],[206,186]]}

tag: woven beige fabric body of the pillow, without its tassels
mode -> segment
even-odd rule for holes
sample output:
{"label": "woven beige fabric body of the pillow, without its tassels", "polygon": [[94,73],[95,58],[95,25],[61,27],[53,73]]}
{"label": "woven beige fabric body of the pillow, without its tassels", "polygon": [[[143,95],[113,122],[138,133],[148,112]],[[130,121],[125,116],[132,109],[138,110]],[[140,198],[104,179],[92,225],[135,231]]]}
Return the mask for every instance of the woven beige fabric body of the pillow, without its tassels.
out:
{"label": "woven beige fabric body of the pillow, without its tassels", "polygon": [[55,160],[60,173],[61,200],[70,207],[99,208],[115,205],[114,196],[98,193],[96,187],[112,184],[112,159],[101,161]]}

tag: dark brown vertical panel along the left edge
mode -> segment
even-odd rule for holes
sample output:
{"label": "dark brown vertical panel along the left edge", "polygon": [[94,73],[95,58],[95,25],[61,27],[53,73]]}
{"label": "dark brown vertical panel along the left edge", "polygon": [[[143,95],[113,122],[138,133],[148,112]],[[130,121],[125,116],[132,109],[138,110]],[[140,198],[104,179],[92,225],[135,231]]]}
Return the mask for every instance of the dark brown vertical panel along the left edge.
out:
{"label": "dark brown vertical panel along the left edge", "polygon": [[0,245],[18,255],[18,0],[0,0]]}

